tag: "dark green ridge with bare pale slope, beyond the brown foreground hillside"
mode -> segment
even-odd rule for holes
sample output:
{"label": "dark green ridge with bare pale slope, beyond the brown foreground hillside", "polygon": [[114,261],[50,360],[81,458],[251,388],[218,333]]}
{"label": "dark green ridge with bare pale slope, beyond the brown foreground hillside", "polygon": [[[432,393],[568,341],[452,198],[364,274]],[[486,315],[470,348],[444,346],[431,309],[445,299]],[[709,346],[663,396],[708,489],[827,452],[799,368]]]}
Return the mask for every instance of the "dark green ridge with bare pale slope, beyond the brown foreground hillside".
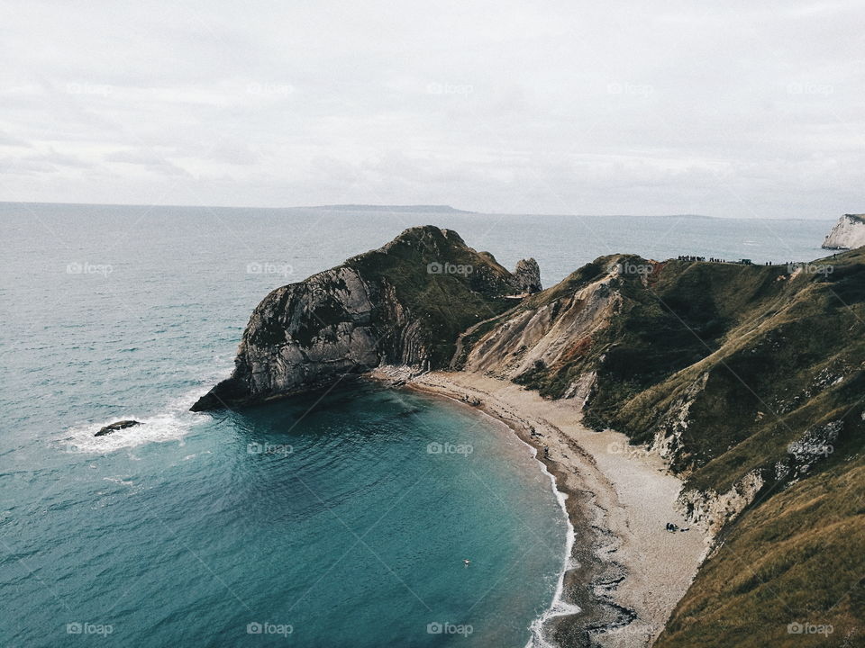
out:
{"label": "dark green ridge with bare pale slope, beyond the brown foreground hillside", "polygon": [[466,336],[459,366],[585,401],[589,425],[726,492],[796,460],[788,445],[850,397],[865,363],[863,261],[790,272],[601,257]]}

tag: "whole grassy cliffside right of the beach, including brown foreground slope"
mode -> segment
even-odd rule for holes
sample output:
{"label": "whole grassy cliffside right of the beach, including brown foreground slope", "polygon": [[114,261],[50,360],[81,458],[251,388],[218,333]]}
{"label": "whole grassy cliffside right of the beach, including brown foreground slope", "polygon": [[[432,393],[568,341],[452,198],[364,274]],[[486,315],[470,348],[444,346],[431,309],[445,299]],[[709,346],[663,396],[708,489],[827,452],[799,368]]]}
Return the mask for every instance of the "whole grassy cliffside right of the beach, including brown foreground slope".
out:
{"label": "whole grassy cliffside right of the beach, including brown foreground slope", "polygon": [[685,479],[715,551],[656,646],[801,645],[806,623],[861,643],[865,249],[793,272],[602,257],[456,359],[576,399]]}

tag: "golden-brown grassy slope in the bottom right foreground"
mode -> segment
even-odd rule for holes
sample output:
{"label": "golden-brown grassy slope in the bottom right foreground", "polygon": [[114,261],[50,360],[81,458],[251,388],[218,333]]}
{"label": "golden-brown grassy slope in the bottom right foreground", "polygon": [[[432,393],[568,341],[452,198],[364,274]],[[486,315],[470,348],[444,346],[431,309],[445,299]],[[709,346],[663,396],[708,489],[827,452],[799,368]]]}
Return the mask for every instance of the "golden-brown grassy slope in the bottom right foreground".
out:
{"label": "golden-brown grassy slope in the bottom right foreground", "polygon": [[[746,511],[703,565],[655,646],[865,645],[863,576],[860,446]],[[811,634],[796,632],[806,624]]]}

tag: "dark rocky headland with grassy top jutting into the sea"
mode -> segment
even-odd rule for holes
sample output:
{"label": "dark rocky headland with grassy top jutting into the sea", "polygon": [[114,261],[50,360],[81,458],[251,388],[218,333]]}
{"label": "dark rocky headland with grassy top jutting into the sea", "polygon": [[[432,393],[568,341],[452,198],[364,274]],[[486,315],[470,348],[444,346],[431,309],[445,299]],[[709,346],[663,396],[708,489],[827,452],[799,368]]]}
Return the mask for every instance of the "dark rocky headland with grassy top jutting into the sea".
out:
{"label": "dark rocky headland with grassy top jutting into the sea", "polygon": [[[537,270],[537,264],[528,264]],[[381,364],[439,367],[461,330],[514,306],[524,290],[488,253],[448,229],[407,229],[385,247],[298,284],[252,312],[232,377],[194,411],[262,401]],[[540,287],[540,286],[539,286]]]}

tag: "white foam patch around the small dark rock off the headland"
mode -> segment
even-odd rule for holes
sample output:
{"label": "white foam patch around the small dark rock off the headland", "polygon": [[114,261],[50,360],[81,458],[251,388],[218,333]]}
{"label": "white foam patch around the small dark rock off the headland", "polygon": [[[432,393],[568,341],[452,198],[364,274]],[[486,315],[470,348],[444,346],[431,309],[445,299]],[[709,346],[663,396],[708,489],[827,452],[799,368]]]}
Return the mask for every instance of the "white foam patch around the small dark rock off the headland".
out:
{"label": "white foam patch around the small dark rock off the headland", "polygon": [[[165,410],[153,416],[138,416],[134,412],[124,412],[111,420],[86,423],[69,428],[63,437],[54,440],[61,451],[69,454],[106,455],[118,450],[144,446],[149,443],[179,441],[203,418],[189,411],[189,407],[203,396],[209,387],[196,387],[182,397],[168,402]],[[117,420],[133,419],[141,425],[112,432],[105,437],[96,437],[96,432]]]}

